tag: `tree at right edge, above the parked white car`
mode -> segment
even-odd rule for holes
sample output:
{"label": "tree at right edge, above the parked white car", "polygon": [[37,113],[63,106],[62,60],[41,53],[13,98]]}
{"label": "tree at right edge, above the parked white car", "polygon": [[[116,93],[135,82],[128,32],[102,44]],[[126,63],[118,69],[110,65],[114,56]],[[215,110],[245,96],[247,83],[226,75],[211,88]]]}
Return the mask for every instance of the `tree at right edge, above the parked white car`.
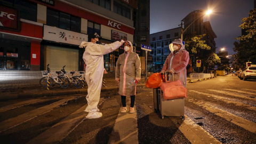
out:
{"label": "tree at right edge, above the parked white car", "polygon": [[235,42],[233,66],[235,69],[245,67],[247,61],[256,64],[256,9],[249,12],[249,17],[242,19],[241,27],[244,32],[241,37],[236,39],[239,42]]}

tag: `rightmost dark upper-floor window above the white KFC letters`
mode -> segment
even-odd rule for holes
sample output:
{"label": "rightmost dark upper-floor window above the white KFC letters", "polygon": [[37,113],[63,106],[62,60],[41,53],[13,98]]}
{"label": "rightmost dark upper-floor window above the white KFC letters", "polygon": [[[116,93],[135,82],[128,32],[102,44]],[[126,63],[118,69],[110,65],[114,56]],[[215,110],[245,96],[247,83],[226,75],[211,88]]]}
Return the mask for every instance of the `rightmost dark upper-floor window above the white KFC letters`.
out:
{"label": "rightmost dark upper-floor window above the white KFC letters", "polygon": [[131,19],[131,9],[128,7],[114,1],[113,10],[115,13],[123,15],[123,17]]}

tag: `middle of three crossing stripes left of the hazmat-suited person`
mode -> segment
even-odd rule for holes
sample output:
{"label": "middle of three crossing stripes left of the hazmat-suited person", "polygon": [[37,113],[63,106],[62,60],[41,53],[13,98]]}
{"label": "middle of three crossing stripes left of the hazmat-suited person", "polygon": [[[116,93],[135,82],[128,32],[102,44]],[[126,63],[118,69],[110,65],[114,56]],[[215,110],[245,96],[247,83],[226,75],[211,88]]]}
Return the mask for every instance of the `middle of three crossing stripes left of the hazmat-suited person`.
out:
{"label": "middle of three crossing stripes left of the hazmat-suited person", "polygon": [[8,129],[11,129],[12,127],[18,126],[22,123],[25,123],[29,121],[30,119],[33,119],[39,115],[43,115],[49,111],[51,111],[53,108],[56,108],[62,104],[65,104],[67,101],[76,99],[77,97],[70,97],[65,98],[62,100],[59,100],[57,102],[51,103],[50,105],[43,106],[41,108],[37,108],[31,111],[28,111],[27,113],[21,114],[17,117],[13,117],[10,119],[6,119],[5,121],[0,122],[0,132],[6,131]]}

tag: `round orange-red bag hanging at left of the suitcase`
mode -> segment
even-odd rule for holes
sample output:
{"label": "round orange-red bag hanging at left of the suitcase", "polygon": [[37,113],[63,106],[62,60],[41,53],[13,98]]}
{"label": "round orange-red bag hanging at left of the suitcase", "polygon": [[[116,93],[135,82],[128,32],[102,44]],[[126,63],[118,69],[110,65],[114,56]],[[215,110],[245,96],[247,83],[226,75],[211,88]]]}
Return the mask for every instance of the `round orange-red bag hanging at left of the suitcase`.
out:
{"label": "round orange-red bag hanging at left of the suitcase", "polygon": [[161,83],[163,82],[162,76],[160,73],[154,73],[148,77],[146,82],[146,87],[149,88],[158,88],[160,87]]}

